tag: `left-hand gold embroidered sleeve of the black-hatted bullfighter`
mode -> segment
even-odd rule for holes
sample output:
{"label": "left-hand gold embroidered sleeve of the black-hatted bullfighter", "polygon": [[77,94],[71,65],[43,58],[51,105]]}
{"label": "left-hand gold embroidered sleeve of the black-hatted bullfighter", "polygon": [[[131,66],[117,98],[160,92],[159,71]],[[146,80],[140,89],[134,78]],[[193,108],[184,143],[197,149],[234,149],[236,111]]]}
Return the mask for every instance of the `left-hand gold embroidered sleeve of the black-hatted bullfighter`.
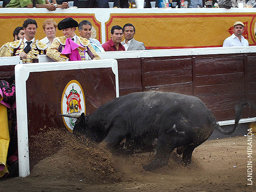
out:
{"label": "left-hand gold embroidered sleeve of the black-hatted bullfighter", "polygon": [[49,58],[52,58],[54,61],[68,61],[67,57],[64,57],[64,55],[61,55],[60,52],[58,52],[58,48],[61,44],[58,42],[57,39],[55,39],[50,47],[48,47],[46,55]]}

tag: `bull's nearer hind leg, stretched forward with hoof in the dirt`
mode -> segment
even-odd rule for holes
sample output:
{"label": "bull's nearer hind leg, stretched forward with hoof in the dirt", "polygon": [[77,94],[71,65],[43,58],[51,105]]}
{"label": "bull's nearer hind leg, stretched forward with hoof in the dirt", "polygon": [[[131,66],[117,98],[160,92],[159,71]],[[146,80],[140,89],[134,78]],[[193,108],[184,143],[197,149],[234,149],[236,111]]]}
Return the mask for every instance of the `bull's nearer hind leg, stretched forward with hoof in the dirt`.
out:
{"label": "bull's nearer hind leg, stretched forward with hoof in the dirt", "polygon": [[158,138],[155,159],[148,165],[143,166],[145,171],[152,171],[167,165],[170,154],[175,149],[174,144],[168,143],[169,141],[170,139],[167,139],[166,137]]}

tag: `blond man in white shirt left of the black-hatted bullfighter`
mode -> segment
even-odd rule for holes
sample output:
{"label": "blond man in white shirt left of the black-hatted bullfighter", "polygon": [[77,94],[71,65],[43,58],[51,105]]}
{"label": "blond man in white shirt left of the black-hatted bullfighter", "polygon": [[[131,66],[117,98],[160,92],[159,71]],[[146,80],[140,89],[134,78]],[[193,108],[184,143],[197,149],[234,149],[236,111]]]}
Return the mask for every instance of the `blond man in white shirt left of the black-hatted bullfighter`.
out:
{"label": "blond man in white shirt left of the black-hatted bullfighter", "polygon": [[47,45],[47,48],[52,44],[56,34],[57,23],[53,19],[47,19],[43,23],[45,38],[40,41]]}

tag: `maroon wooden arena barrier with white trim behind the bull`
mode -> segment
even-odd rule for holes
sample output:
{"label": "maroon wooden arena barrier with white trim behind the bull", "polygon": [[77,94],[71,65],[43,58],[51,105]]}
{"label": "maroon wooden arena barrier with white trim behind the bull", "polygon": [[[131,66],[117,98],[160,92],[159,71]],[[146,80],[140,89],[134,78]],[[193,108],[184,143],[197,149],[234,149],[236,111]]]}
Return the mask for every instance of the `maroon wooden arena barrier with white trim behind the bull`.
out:
{"label": "maroon wooden arena barrier with white trim behind the bull", "polygon": [[[218,121],[230,120],[241,100],[256,102],[255,50],[250,46],[99,52],[102,60],[98,61],[46,63],[42,61],[50,59],[40,55],[40,63],[35,64],[19,64],[18,57],[11,57],[13,65],[8,58],[0,58],[0,71],[4,71],[0,79],[13,74],[16,64],[18,134],[25,130],[19,137],[23,149],[19,154],[25,159],[22,175],[29,174],[29,165],[24,163],[29,152],[21,141],[28,141],[44,126],[66,126],[59,114],[64,113],[61,103],[70,81],[81,84],[87,115],[119,94],[162,91],[198,96]],[[105,66],[114,61],[115,73]],[[250,122],[255,116],[255,111],[246,108],[242,117],[251,117]]]}

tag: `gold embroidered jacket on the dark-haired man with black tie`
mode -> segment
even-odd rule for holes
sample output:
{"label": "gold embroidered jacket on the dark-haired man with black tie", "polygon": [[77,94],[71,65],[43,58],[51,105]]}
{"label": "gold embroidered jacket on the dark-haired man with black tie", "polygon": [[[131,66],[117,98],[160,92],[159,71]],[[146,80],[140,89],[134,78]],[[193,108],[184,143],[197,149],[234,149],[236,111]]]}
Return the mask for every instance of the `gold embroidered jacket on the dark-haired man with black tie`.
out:
{"label": "gold embroidered jacket on the dark-haired man with black tie", "polygon": [[[21,52],[24,52],[25,44],[23,39],[7,42],[0,48],[0,57],[17,56]],[[23,58],[23,63],[32,63],[32,59],[37,58],[38,55],[46,54],[47,45],[35,40],[32,44],[31,50],[27,53],[27,58]]]}

